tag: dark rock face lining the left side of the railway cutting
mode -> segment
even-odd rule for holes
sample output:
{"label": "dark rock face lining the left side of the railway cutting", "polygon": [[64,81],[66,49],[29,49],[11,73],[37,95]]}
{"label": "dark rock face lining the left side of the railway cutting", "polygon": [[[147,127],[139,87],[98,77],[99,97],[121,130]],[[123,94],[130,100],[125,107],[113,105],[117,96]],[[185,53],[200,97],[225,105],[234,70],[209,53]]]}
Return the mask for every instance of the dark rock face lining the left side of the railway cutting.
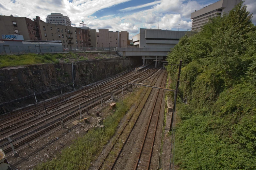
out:
{"label": "dark rock face lining the left side of the railway cutting", "polygon": [[[77,62],[74,64],[75,88],[114,76],[138,64],[138,59],[103,59]],[[37,64],[25,67],[9,67],[0,70],[0,104],[39,92],[53,90],[72,84],[72,64]],[[63,93],[73,90],[73,86],[61,89]],[[60,94],[60,90],[37,95],[42,101]],[[34,104],[35,98],[15,102],[0,108],[0,114],[15,108]]]}

